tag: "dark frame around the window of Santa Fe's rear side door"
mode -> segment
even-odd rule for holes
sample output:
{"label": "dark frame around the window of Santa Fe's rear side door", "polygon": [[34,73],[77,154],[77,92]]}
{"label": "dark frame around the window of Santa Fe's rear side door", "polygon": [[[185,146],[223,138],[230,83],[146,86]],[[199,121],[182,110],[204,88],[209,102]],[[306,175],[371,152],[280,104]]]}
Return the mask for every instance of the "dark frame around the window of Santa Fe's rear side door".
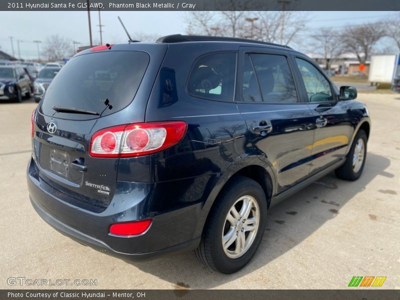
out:
{"label": "dark frame around the window of Santa Fe's rear side door", "polygon": [[[297,86],[297,80],[295,78],[296,73],[292,68],[291,59],[290,59],[290,53],[288,51],[284,52],[284,51],[275,50],[275,49],[271,49],[270,50],[268,48],[265,48],[264,50],[261,50],[261,49],[257,49],[257,50],[255,50],[255,49],[245,49],[242,54],[243,54],[242,58],[245,57],[245,55],[248,55],[248,58],[250,59],[251,67],[253,68],[253,70],[254,70],[254,65],[253,65],[252,60],[250,58],[250,54],[269,54],[269,55],[281,55],[281,56],[284,56],[286,58],[287,65],[289,66],[290,74],[291,74],[291,77],[293,79],[294,88],[295,88],[296,96],[297,96],[297,102],[264,102],[263,101],[263,97],[262,97],[262,93],[261,93],[261,88],[260,88],[259,83],[258,83],[258,77],[255,74],[255,77],[257,79],[257,84],[258,84],[258,90],[259,90],[259,93],[260,93],[262,101],[261,102],[250,102],[250,101],[244,101],[243,100],[243,93],[242,93],[243,75],[241,75],[240,76],[240,82],[238,82],[241,86],[239,86],[239,84],[237,84],[237,89],[240,90],[240,95],[238,97],[234,98],[235,99],[234,101],[236,103],[245,103],[245,104],[280,104],[280,105],[293,105],[293,104],[296,105],[296,104],[304,104],[305,103],[305,102],[302,101],[302,97],[301,97],[301,94],[300,94],[300,91],[299,91],[299,86]],[[240,65],[240,71],[244,70],[244,59],[245,58],[243,58],[242,63]],[[255,73],[255,70],[254,70],[254,73]]]}

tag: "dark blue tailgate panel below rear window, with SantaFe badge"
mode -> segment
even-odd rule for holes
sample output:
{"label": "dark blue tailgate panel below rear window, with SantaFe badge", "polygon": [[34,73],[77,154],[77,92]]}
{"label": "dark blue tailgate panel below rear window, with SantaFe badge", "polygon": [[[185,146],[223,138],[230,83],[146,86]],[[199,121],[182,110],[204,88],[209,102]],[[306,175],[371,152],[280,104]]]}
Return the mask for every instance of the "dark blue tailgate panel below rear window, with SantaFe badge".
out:
{"label": "dark blue tailgate panel below rear window, with SantaFe badge", "polygon": [[[94,122],[38,115],[36,124],[42,130],[35,131],[33,151],[40,179],[48,185],[47,189],[52,187],[52,192],[69,203],[101,211],[108,206],[115,190],[118,158],[89,156]],[[54,133],[45,131],[49,123],[56,126]]]}

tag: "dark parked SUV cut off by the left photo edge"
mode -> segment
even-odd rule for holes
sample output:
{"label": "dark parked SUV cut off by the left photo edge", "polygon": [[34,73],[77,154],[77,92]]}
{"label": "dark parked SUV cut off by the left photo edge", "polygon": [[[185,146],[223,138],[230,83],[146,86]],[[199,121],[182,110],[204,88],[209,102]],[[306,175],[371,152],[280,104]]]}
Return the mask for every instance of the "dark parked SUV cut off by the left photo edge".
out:
{"label": "dark parked SUV cut off by the left photo edge", "polygon": [[29,97],[32,91],[30,77],[23,67],[18,65],[0,66],[0,100]]}

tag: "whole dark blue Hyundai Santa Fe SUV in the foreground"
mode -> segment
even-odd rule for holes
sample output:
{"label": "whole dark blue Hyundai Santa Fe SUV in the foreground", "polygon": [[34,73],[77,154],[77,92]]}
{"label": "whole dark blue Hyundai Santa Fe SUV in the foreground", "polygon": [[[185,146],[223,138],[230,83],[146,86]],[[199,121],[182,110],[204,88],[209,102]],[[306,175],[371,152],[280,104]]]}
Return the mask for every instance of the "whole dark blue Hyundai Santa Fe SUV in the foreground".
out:
{"label": "whole dark blue Hyundai Santa Fe SUV in the foreground", "polygon": [[232,273],[271,205],[332,170],[361,175],[370,119],[356,95],[276,44],[177,34],[86,49],[32,113],[30,201],[102,252],[195,249]]}

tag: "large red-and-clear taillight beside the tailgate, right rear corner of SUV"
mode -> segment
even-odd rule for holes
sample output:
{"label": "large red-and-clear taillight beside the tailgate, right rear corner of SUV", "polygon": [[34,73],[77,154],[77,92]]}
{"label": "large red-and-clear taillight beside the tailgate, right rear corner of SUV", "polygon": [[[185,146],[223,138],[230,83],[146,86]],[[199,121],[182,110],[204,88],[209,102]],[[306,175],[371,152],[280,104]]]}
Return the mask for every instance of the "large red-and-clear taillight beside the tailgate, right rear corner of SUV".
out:
{"label": "large red-and-clear taillight beside the tailgate, right rear corner of SUV", "polygon": [[92,157],[132,157],[162,151],[177,144],[186,133],[182,121],[147,122],[101,129],[90,141]]}

